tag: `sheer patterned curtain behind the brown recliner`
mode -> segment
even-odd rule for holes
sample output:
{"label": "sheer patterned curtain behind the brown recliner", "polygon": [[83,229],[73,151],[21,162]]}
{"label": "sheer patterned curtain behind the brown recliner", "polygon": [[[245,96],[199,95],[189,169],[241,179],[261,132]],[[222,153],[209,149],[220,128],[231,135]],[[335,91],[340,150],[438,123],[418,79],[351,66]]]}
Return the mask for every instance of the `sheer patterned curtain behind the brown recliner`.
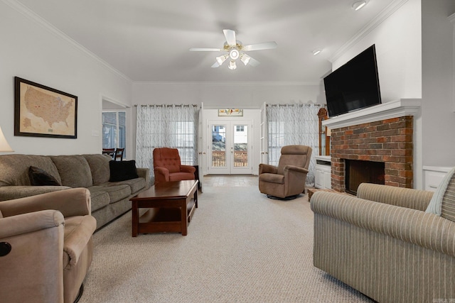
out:
{"label": "sheer patterned curtain behind the brown recliner", "polygon": [[313,149],[306,185],[314,186],[315,155],[319,154],[321,104],[267,104],[269,164],[278,165],[285,145],[307,145]]}

